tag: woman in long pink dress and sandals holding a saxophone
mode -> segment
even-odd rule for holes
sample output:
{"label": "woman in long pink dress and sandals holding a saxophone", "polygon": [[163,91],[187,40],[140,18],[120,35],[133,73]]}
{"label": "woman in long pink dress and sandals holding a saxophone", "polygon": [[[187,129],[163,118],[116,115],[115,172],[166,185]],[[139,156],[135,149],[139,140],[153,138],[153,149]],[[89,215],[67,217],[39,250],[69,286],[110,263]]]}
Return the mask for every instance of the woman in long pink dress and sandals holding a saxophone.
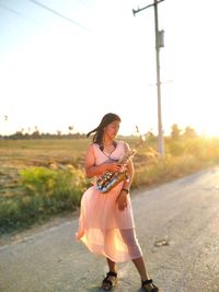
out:
{"label": "woman in long pink dress and sandals holding a saxophone", "polygon": [[92,133],[94,136],[85,157],[87,176],[100,178],[107,171],[126,175],[106,194],[99,190],[96,182],[83,194],[79,231],[76,236],[90,252],[106,257],[108,272],[102,282],[102,289],[110,291],[116,284],[116,262],[132,260],[145,291],[158,292],[159,289],[146,271],[142,252],[135,233],[129,196],[134,165],[131,160],[125,166],[118,164],[118,160],[129,151],[126,142],[115,140],[119,124],[119,116],[108,113],[97,128],[88,133],[88,137]]}

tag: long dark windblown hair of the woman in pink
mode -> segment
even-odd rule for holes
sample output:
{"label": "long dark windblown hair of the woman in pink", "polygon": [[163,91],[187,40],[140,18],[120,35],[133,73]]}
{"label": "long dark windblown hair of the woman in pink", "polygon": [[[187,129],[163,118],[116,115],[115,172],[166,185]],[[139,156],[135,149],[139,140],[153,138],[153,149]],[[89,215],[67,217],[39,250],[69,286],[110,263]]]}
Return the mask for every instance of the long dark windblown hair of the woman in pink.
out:
{"label": "long dark windblown hair of the woman in pink", "polygon": [[115,120],[118,120],[120,121],[120,118],[118,115],[116,114],[113,114],[113,113],[108,113],[106,114],[105,116],[103,116],[100,125],[93,129],[92,131],[88,132],[87,133],[87,137],[90,137],[91,133],[94,132],[94,136],[93,136],[93,143],[97,143],[97,144],[102,144],[102,137],[103,137],[103,130],[106,126],[108,126],[111,122],[115,121]]}

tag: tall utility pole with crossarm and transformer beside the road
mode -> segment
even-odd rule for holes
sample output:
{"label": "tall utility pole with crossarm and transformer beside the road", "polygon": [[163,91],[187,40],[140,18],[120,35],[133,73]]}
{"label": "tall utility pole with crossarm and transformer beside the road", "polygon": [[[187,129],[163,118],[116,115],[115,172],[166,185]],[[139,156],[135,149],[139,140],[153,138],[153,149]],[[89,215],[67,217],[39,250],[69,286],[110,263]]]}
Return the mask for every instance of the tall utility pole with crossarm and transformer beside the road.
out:
{"label": "tall utility pole with crossarm and transformer beside the road", "polygon": [[163,129],[162,129],[162,112],[161,112],[161,80],[160,80],[160,48],[163,47],[163,31],[159,31],[158,23],[158,4],[164,0],[153,0],[152,4],[145,8],[134,10],[134,16],[141,10],[148,9],[150,7],[154,8],[154,28],[155,28],[155,61],[157,61],[157,92],[158,92],[158,150],[161,156],[164,155],[164,140],[163,140]]}

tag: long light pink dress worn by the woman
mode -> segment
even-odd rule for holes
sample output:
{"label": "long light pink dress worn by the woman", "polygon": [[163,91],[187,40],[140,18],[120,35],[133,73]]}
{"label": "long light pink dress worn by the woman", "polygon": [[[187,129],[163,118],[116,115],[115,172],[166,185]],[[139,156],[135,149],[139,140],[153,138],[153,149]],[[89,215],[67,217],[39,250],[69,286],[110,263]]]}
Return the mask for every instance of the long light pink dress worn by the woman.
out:
{"label": "long light pink dress worn by the woman", "polygon": [[[95,165],[108,160],[119,160],[125,154],[123,141],[107,156],[97,144],[93,144]],[[129,195],[127,208],[118,209],[116,199],[123,182],[107,194],[102,194],[94,183],[82,196],[79,229],[76,238],[82,241],[90,252],[123,262],[142,256],[135,232],[135,222]]]}

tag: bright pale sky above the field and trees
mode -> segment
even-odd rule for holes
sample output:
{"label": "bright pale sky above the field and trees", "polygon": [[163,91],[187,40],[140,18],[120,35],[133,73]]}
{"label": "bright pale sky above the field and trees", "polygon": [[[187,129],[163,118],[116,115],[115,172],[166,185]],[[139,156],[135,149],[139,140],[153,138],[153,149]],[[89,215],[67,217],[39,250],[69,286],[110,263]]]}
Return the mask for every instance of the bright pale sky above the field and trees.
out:
{"label": "bright pale sky above the field and trees", "polygon": [[[89,132],[103,115],[158,133],[153,0],[0,0],[0,135]],[[219,136],[218,0],[158,5],[164,135]]]}

